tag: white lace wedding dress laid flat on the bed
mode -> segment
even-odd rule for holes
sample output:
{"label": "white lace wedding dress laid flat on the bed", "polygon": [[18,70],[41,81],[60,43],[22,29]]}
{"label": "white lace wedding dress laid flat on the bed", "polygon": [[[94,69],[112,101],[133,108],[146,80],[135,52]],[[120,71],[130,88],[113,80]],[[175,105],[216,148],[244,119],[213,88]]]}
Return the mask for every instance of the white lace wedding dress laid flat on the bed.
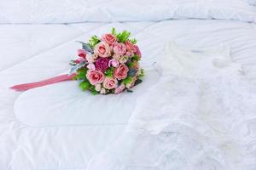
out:
{"label": "white lace wedding dress laid flat on the bed", "polygon": [[138,99],[125,133],[87,170],[253,170],[256,88],[229,48],[172,42],[157,70],[160,81]]}

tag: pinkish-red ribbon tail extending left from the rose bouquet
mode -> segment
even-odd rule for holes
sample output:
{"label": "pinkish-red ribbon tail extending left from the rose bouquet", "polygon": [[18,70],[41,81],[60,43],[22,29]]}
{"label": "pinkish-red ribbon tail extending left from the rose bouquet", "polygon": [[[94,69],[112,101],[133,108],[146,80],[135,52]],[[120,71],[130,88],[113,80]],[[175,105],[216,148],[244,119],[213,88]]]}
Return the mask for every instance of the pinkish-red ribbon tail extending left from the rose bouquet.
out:
{"label": "pinkish-red ribbon tail extending left from the rose bouquet", "polygon": [[26,91],[31,88],[38,88],[38,87],[42,87],[45,85],[54,84],[56,82],[73,80],[73,77],[75,77],[75,76],[76,76],[76,73],[73,73],[71,75],[66,74],[66,75],[61,75],[61,76],[57,76],[57,77],[52,77],[52,78],[49,78],[49,79],[46,79],[46,80],[40,81],[40,82],[18,84],[13,87],[10,87],[10,88],[14,89],[16,91]]}

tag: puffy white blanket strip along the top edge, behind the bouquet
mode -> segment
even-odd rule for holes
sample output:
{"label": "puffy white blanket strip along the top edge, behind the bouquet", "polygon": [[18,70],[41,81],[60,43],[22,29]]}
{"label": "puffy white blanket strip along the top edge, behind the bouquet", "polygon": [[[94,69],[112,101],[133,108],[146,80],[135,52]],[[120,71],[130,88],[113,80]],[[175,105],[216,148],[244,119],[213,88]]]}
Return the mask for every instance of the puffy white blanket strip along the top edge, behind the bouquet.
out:
{"label": "puffy white blanket strip along the top edge, behind the bouquet", "polygon": [[244,0],[14,0],[0,4],[0,23],[75,23],[217,19],[255,22]]}

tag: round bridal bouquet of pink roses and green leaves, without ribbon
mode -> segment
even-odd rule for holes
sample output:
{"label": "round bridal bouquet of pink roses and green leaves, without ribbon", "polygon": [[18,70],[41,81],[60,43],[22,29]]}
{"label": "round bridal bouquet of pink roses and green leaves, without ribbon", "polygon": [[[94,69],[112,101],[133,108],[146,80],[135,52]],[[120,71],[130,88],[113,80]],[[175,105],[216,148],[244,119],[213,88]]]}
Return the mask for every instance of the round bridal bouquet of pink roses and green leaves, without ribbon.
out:
{"label": "round bridal bouquet of pink roses and green leaves, without ribbon", "polygon": [[71,60],[70,74],[82,90],[92,94],[119,94],[142,82],[142,58],[136,39],[131,33],[118,33],[114,28],[102,37],[90,37],[89,42],[80,42],[78,59]]}

